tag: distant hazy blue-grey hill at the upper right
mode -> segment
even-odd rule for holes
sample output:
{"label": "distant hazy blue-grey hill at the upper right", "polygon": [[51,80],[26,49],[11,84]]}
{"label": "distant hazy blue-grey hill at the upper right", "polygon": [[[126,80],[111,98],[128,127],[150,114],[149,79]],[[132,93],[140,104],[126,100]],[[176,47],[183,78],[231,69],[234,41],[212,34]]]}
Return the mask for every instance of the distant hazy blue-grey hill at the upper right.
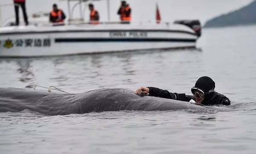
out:
{"label": "distant hazy blue-grey hill at the upper right", "polygon": [[223,27],[243,24],[256,24],[256,0],[241,9],[208,20],[204,27]]}

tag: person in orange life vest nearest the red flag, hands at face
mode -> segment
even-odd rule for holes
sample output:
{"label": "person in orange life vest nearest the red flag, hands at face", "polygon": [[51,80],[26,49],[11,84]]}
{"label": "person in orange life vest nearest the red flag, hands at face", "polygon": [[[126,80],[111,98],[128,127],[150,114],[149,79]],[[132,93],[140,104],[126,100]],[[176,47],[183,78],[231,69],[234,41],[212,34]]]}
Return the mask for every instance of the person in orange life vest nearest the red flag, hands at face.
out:
{"label": "person in orange life vest nearest the red flag, hands at face", "polygon": [[125,0],[122,0],[121,6],[117,12],[120,15],[120,20],[122,23],[130,23],[131,21],[131,8],[126,3]]}

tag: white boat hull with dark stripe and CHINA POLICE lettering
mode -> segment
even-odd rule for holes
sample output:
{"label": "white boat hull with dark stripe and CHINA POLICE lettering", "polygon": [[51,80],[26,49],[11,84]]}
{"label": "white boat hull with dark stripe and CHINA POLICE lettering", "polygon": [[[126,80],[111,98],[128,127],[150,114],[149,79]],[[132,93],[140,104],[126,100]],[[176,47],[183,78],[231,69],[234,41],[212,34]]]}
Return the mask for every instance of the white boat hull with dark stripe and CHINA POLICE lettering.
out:
{"label": "white boat hull with dark stripe and CHINA POLICE lettering", "polygon": [[0,57],[41,57],[195,47],[197,35],[170,29],[42,29],[0,33]]}

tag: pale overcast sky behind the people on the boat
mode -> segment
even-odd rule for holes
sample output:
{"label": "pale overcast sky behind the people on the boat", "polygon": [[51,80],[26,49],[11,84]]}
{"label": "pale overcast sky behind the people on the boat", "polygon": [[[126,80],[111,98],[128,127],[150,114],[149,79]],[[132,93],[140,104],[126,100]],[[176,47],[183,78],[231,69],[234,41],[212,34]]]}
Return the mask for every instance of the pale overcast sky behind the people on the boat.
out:
{"label": "pale overcast sky behind the people on the boat", "polygon": [[[160,9],[160,15],[162,21],[173,22],[174,20],[181,19],[199,19],[201,23],[204,23],[221,14],[231,12],[239,9],[242,6],[246,6],[253,0],[126,0],[132,9],[132,21],[133,22],[148,22],[155,20],[156,3],[158,3]],[[100,20],[107,21],[107,9],[106,0],[99,0],[92,2],[95,9],[99,11]],[[119,16],[116,14],[117,9],[120,6],[121,0],[110,0],[111,9],[111,21],[118,21]],[[12,4],[13,0],[0,0],[0,5]],[[31,15],[34,12],[45,11],[50,12],[52,4],[57,3],[58,7],[63,9],[66,15],[67,2],[60,0],[26,0],[27,12]],[[74,4],[74,3],[73,3]],[[85,5],[84,5],[85,6]],[[83,6],[83,7],[84,7]],[[1,17],[3,21],[10,17],[15,16],[13,6],[1,6]],[[20,15],[21,12],[20,12]],[[74,12],[75,16],[79,15],[79,12]],[[89,11],[86,7],[84,12],[85,20],[89,19]],[[0,21],[0,22],[1,22]]]}

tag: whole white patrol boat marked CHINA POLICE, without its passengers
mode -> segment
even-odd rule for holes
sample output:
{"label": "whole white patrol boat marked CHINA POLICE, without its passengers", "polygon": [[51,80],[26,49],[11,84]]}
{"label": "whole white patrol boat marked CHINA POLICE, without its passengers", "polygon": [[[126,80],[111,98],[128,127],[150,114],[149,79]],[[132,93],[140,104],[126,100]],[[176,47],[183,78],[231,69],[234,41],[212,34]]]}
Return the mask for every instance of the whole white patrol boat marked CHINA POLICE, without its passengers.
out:
{"label": "whole white patrol boat marked CHINA POLICE, without its passengers", "polygon": [[[70,1],[67,0],[68,4]],[[81,4],[86,0],[76,1]],[[70,7],[68,13],[72,16]],[[61,26],[33,23],[29,26],[0,27],[0,57],[43,57],[194,48],[200,35],[201,26],[198,20],[160,24],[132,22],[89,24],[70,18],[66,25]]]}

